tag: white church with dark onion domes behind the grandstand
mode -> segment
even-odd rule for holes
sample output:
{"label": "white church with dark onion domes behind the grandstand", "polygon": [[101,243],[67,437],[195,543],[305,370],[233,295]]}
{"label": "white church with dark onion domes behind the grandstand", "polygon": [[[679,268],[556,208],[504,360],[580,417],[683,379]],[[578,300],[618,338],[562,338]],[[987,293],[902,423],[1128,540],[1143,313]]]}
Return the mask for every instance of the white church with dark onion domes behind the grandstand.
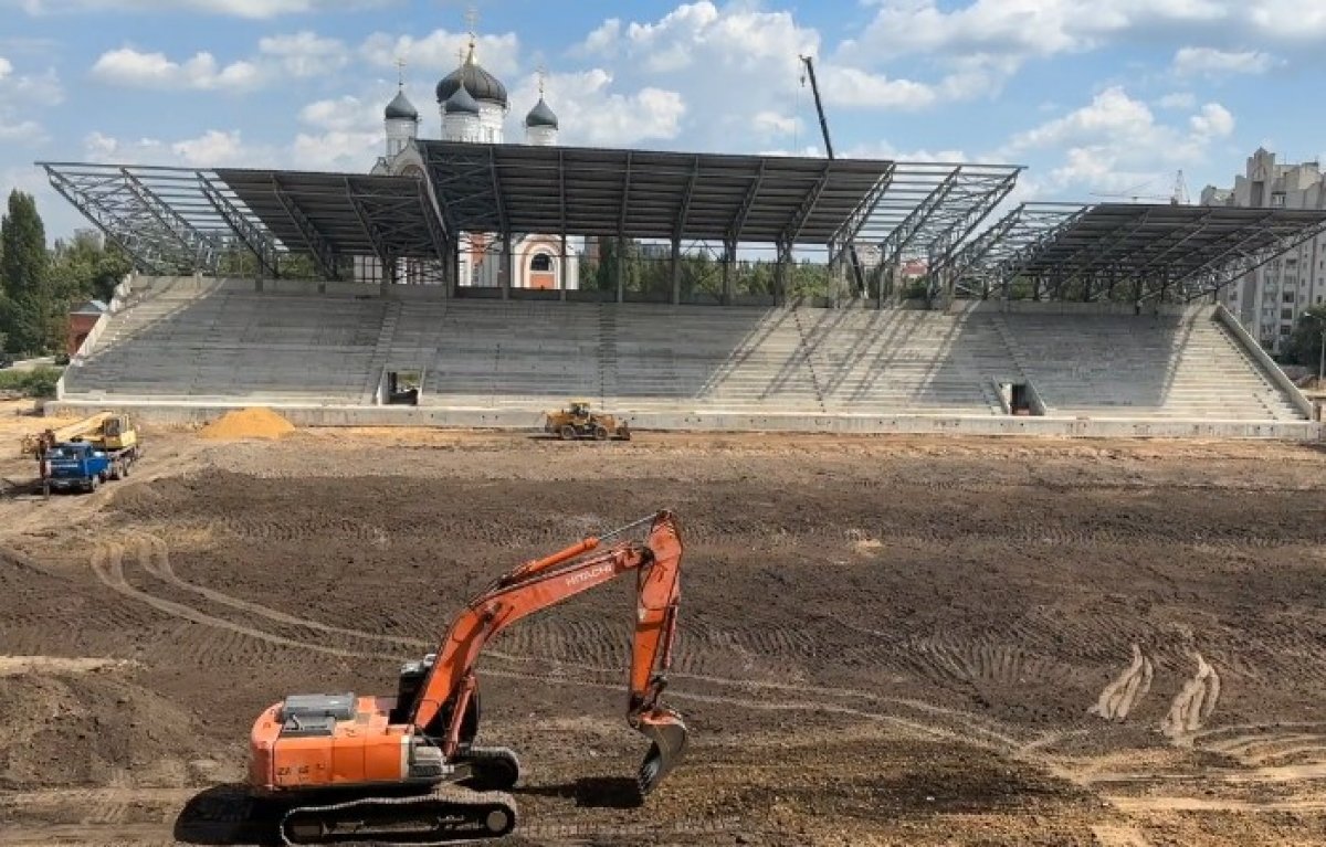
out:
{"label": "white church with dark onion domes behind the grandstand", "polygon": [[[525,115],[526,144],[557,144],[557,115],[544,99],[540,81],[538,102]],[[438,107],[442,118],[442,141],[503,144],[507,114],[511,102],[507,86],[484,70],[476,54],[475,34],[460,66],[438,82]],[[414,142],[419,138],[422,119],[404,93],[400,81],[396,95],[383,113],[386,125],[386,155],[379,158],[370,174],[424,178],[424,163]],[[503,240],[493,233],[461,233],[460,286],[501,288],[505,257]],[[517,233],[512,237],[511,288],[575,290],[579,288],[579,252],[573,243],[566,245],[562,261],[560,236]],[[408,262],[398,272],[399,282],[420,282],[422,276]],[[565,280],[562,278],[565,276]]]}

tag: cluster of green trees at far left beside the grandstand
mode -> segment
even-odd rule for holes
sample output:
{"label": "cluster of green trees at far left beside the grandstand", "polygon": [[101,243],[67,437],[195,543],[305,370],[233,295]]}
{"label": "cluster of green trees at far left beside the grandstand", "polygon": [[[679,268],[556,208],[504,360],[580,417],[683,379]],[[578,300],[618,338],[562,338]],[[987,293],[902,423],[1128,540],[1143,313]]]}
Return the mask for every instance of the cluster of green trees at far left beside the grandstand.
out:
{"label": "cluster of green trees at far left beside the grandstand", "polygon": [[65,346],[70,308],[110,300],[133,266],[129,256],[93,233],[46,247],[46,229],[29,194],[12,191],[0,217],[0,346],[44,355]]}

